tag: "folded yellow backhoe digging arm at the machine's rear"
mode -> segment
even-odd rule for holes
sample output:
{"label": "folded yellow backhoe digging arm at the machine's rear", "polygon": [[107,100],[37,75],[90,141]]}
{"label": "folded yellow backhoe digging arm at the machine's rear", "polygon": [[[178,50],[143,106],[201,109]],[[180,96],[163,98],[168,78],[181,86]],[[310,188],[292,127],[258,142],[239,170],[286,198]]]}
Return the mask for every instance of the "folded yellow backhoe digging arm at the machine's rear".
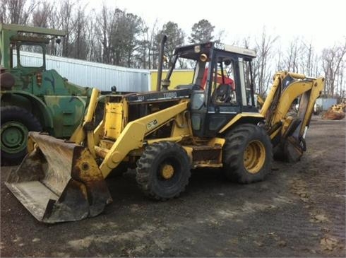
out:
{"label": "folded yellow backhoe digging arm at the machine's rear", "polygon": [[[285,159],[297,160],[305,151],[306,130],[309,127],[314,104],[323,87],[323,77],[310,78],[287,71],[275,74],[273,86],[263,104],[261,115],[266,117],[266,128],[273,146],[280,144]],[[297,117],[287,116],[292,103],[299,96]],[[292,147],[294,151],[288,145],[294,146]]]}

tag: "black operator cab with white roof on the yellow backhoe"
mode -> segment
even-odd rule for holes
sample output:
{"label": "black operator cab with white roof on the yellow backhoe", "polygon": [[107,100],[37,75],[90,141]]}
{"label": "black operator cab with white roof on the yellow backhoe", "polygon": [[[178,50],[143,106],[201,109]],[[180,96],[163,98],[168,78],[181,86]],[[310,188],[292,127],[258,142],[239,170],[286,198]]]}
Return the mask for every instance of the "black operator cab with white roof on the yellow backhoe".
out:
{"label": "black operator cab with white roof on the yellow backhoe", "polygon": [[165,81],[169,81],[178,60],[194,62],[192,83],[177,88],[193,90],[190,111],[195,136],[214,137],[235,115],[258,113],[253,97],[251,60],[254,57],[253,50],[216,42],[175,49]]}

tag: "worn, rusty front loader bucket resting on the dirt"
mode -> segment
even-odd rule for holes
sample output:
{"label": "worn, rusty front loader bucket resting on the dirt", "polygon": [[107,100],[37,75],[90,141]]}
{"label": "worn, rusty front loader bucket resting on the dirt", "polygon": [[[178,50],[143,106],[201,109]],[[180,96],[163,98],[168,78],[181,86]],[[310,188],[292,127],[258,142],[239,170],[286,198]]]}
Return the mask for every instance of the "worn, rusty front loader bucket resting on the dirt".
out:
{"label": "worn, rusty front loader bucket resting on the dirt", "polygon": [[6,187],[38,221],[78,221],[112,201],[91,153],[75,143],[29,133],[35,150],[8,175]]}

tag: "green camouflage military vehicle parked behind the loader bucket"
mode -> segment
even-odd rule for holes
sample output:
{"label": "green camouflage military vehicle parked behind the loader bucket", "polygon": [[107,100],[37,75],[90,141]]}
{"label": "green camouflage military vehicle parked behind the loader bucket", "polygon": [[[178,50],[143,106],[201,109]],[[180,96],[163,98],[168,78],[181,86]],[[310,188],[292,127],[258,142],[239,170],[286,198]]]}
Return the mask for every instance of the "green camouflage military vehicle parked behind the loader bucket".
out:
{"label": "green camouflage military vehicle parked behind the loader bucket", "polygon": [[[57,138],[71,136],[83,118],[92,89],[46,69],[47,45],[59,43],[65,36],[63,30],[0,23],[0,33],[1,165],[14,165],[27,153],[28,131],[46,131]],[[39,53],[40,64],[25,61],[21,56],[25,51]]]}

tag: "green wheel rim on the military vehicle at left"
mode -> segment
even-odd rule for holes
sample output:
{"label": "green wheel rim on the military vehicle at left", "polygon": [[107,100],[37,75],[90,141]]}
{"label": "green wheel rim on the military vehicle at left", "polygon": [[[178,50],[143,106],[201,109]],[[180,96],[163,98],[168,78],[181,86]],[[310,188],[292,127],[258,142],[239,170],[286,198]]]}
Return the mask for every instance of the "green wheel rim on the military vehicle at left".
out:
{"label": "green wheel rim on the military vehicle at left", "polygon": [[7,122],[1,127],[1,150],[6,153],[23,151],[28,140],[28,128],[20,122]]}

